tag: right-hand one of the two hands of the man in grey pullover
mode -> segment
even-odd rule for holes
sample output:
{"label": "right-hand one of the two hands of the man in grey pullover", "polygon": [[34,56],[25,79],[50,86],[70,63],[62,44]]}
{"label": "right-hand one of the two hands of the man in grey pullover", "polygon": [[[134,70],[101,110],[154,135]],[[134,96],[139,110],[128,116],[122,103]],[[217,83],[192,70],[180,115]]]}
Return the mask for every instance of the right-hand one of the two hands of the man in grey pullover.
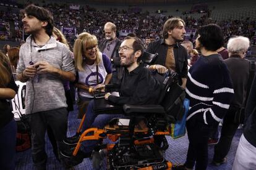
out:
{"label": "right-hand one of the two hands of the man in grey pullover", "polygon": [[43,74],[43,73],[58,73],[58,68],[53,67],[53,65],[50,65],[46,61],[39,61],[36,62],[33,67],[37,68],[37,73],[38,74]]}

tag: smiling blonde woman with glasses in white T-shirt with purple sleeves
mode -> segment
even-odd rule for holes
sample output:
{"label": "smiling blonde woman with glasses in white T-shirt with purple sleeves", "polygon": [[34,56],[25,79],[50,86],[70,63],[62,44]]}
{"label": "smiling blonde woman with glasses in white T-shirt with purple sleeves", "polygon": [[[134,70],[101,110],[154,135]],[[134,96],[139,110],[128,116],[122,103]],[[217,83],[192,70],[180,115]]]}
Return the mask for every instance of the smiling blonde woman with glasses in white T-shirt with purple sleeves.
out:
{"label": "smiling blonde woman with glasses in white T-shirt with purple sleeves", "polygon": [[[79,34],[75,40],[74,59],[79,99],[92,100],[96,86],[109,83],[112,77],[111,62],[108,56],[98,49],[96,36],[86,32]],[[85,111],[86,108],[82,108],[82,112],[85,113]]]}

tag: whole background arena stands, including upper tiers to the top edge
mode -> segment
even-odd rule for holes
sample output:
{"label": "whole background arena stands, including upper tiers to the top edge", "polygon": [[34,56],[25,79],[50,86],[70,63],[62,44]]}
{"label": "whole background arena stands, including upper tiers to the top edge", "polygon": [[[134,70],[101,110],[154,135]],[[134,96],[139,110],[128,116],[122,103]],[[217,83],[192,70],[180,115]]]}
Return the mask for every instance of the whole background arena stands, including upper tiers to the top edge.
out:
{"label": "whole background arena stands, including upper tiers to the top edge", "polygon": [[[100,1],[95,1],[100,2]],[[106,6],[98,5],[84,5],[79,4],[79,10],[70,9],[70,4],[41,4],[54,14],[54,22],[57,28],[74,29],[76,31],[72,34],[66,34],[67,40],[72,47],[75,39],[75,34],[82,31],[88,31],[95,34],[99,41],[104,38],[103,25],[110,21],[116,24],[119,31],[120,38],[129,33],[136,33],[140,38],[151,39],[161,38],[161,30],[163,23],[168,17],[177,16],[181,17],[186,22],[186,40],[194,40],[195,31],[198,26],[207,23],[217,23],[223,28],[225,41],[234,35],[243,35],[251,39],[252,44],[256,44],[255,28],[256,28],[256,1],[221,1],[220,2],[207,2],[206,4],[189,4],[184,6],[184,3],[173,5],[160,6],[137,6],[126,7],[122,4],[111,6],[112,1],[105,2]],[[114,2],[114,1],[113,1]],[[147,1],[149,4],[153,1]],[[37,3],[37,2],[36,2]],[[54,3],[54,4],[53,4]],[[139,1],[138,1],[139,3]],[[140,4],[140,3],[139,3]],[[203,10],[200,10],[200,7]],[[208,10],[207,10],[208,7]],[[197,9],[197,10],[196,10]],[[0,38],[2,40],[12,39],[19,41],[22,39],[22,22],[19,18],[19,10],[15,7],[0,6],[0,22],[6,25],[6,32]],[[134,12],[140,11],[140,14]],[[158,14],[160,10],[160,14]],[[106,17],[108,16],[108,17]],[[128,32],[127,32],[128,30]],[[192,30],[192,31],[191,31]],[[190,34],[192,36],[190,37]],[[26,36],[25,36],[26,38]],[[2,44],[2,43],[1,43]],[[254,49],[252,53],[255,54]]]}

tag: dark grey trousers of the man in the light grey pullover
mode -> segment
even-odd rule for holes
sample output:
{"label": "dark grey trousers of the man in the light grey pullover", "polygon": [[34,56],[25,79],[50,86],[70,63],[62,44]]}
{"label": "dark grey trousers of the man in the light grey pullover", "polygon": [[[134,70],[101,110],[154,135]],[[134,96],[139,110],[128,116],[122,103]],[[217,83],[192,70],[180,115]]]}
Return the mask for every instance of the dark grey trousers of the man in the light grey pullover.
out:
{"label": "dark grey trousers of the man in the light grey pullover", "polygon": [[63,147],[63,139],[67,133],[67,109],[58,108],[40,111],[30,115],[32,128],[32,160],[36,169],[46,169],[45,134],[47,126],[53,130],[58,149]]}

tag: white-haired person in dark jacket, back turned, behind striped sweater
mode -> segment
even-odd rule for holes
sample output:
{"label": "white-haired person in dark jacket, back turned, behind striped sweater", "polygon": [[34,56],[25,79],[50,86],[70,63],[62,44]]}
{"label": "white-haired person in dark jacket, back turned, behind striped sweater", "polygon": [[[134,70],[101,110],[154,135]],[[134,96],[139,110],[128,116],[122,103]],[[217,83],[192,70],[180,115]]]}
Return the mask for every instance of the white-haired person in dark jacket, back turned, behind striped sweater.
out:
{"label": "white-haired person in dark jacket, back turned, behind striped sweater", "polygon": [[228,41],[229,59],[224,60],[224,63],[226,63],[233,81],[234,97],[223,118],[220,140],[215,145],[213,164],[216,166],[226,163],[226,155],[228,155],[232,139],[239,126],[239,122],[235,122],[234,118],[236,112],[245,107],[247,91],[250,90],[248,89],[250,62],[244,59],[249,45],[249,39],[244,36],[237,36]]}

